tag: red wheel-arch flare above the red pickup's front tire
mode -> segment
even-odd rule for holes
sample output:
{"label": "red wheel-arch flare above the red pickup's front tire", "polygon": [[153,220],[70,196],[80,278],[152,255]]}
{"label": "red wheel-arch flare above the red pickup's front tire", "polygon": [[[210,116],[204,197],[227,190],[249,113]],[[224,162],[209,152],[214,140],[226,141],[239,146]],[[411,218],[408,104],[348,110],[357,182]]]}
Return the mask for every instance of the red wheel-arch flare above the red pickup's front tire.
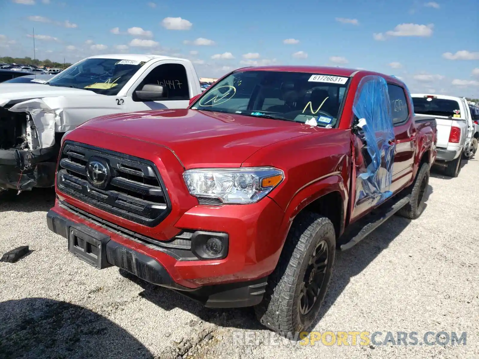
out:
{"label": "red wheel-arch flare above the red pickup's front tire", "polygon": [[322,176],[318,179],[315,179],[312,182],[307,183],[302,188],[300,188],[293,196],[291,201],[288,203],[283,221],[281,223],[280,229],[278,231],[279,236],[281,236],[281,248],[283,248],[286,236],[288,235],[289,228],[293,223],[293,220],[299,212],[301,212],[308,204],[316,201],[320,197],[331,193],[339,192],[342,199],[342,218],[340,224],[340,234],[344,229],[344,221],[346,218],[348,194],[347,188],[344,184],[344,181],[341,176],[341,172],[333,172],[326,176]]}

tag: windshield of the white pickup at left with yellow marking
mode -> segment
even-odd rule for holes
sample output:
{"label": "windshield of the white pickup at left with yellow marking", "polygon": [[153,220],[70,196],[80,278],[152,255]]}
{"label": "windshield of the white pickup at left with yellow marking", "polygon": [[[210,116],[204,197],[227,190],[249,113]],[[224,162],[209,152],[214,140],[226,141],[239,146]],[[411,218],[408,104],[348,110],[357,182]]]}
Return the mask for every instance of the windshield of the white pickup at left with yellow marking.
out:
{"label": "windshield of the white pickup at left with yellow marking", "polygon": [[60,72],[48,84],[116,95],[143,64],[118,58],[87,58]]}

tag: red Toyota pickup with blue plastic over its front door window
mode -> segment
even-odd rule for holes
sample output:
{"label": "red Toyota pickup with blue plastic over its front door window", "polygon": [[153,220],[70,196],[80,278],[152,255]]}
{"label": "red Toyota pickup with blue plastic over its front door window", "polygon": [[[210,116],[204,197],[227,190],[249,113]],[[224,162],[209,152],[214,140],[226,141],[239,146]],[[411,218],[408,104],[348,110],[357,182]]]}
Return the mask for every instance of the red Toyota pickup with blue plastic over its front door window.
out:
{"label": "red Toyota pickup with blue plastic over its front door window", "polygon": [[248,67],[190,103],[98,117],[64,136],[47,221],[69,252],[301,332],[336,248],[394,213],[422,213],[435,120],[413,116],[397,78]]}

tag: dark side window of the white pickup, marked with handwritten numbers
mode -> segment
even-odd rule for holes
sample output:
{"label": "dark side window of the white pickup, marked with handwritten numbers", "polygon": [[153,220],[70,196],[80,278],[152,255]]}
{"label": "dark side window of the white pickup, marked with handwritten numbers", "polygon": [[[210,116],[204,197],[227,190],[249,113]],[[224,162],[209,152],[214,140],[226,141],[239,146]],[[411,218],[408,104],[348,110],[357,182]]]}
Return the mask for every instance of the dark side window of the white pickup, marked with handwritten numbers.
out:
{"label": "dark side window of the white pickup, marked with handwritten numbers", "polygon": [[163,64],[155,67],[145,77],[141,87],[147,84],[163,86],[168,97],[165,100],[189,100],[188,76],[182,64]]}

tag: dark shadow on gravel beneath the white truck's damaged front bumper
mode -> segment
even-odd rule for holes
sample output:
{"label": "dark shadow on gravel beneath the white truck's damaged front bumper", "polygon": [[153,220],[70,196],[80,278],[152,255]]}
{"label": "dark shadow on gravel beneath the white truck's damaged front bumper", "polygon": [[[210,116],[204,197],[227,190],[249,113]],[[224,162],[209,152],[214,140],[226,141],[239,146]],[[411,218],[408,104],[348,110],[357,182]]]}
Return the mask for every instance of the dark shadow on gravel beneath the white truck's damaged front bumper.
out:
{"label": "dark shadow on gravel beneath the white truck's damaged front bumper", "polygon": [[47,212],[55,204],[54,188],[34,188],[17,195],[16,191],[0,192],[0,213],[15,212]]}

